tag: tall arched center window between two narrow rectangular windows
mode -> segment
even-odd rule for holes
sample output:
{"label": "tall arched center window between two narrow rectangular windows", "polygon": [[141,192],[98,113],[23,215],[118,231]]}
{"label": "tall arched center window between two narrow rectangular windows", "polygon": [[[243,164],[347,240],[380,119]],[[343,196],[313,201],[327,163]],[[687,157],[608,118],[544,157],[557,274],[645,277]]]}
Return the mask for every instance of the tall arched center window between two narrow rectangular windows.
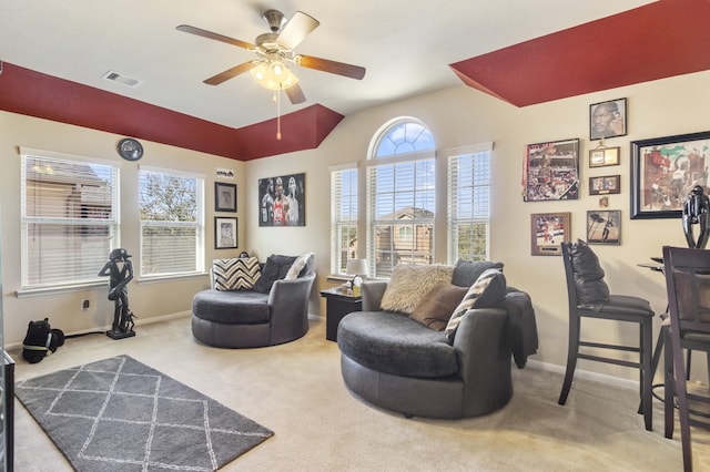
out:
{"label": "tall arched center window between two narrow rectangular windows", "polygon": [[[374,277],[434,260],[435,144],[414,119],[386,124],[367,163],[367,259]],[[374,264],[373,264],[374,261]]]}

